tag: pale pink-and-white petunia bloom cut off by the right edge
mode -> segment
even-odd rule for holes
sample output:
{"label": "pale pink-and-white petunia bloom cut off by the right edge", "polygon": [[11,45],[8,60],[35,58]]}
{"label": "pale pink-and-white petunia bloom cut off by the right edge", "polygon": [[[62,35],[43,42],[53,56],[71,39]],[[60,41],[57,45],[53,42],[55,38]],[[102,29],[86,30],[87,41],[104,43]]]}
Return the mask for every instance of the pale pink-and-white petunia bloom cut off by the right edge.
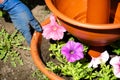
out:
{"label": "pale pink-and-white petunia bloom cut off by the right edge", "polygon": [[113,73],[117,78],[120,78],[120,56],[115,56],[110,60],[113,66]]}

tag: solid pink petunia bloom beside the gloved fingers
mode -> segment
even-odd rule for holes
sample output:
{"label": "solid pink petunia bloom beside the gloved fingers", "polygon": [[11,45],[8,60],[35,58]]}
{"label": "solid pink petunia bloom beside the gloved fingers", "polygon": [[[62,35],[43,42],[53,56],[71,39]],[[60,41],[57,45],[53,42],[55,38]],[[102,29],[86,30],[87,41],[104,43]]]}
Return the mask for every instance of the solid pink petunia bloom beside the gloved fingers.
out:
{"label": "solid pink petunia bloom beside the gloved fingers", "polygon": [[64,36],[65,28],[56,22],[53,15],[50,16],[50,23],[43,26],[43,37],[46,39],[60,40]]}

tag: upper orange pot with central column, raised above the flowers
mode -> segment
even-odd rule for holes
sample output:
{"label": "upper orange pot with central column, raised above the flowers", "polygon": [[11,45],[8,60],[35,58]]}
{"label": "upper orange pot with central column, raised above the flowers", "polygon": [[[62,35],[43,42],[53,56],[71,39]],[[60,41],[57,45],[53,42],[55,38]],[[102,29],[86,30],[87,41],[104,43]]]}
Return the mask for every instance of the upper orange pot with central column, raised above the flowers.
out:
{"label": "upper orange pot with central column, raised above the flowers", "polygon": [[[120,23],[113,23],[118,0],[99,0],[99,2],[98,0],[45,0],[45,2],[69,33],[92,46],[91,49],[94,51],[94,48],[100,49],[120,38]],[[97,2],[102,6],[94,5]],[[120,20],[119,15],[116,15],[116,19]],[[99,56],[99,52],[94,53],[94,51],[90,55]]]}

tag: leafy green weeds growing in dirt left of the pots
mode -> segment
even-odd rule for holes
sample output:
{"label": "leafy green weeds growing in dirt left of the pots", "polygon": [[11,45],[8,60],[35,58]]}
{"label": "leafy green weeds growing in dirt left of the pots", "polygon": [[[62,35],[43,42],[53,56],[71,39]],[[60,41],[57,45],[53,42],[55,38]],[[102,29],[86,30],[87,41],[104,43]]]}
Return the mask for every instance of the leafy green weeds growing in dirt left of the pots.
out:
{"label": "leafy green weeds growing in dirt left of the pots", "polygon": [[[16,67],[17,64],[23,65],[18,49],[25,49],[22,45],[24,37],[16,30],[12,34],[5,29],[0,30],[0,59]],[[26,48],[27,49],[27,48]]]}

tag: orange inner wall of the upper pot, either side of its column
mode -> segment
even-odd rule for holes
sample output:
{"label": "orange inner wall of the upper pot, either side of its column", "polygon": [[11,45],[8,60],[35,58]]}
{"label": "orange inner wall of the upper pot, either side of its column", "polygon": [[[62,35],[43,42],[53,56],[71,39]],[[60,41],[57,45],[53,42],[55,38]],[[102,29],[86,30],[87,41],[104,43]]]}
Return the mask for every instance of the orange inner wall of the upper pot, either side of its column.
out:
{"label": "orange inner wall of the upper pot, either side of its column", "polygon": [[[119,0],[110,0],[110,18],[109,23],[113,23]],[[86,23],[87,0],[52,0],[54,7],[64,16],[76,20],[80,23]],[[119,18],[119,17],[117,17]]]}

